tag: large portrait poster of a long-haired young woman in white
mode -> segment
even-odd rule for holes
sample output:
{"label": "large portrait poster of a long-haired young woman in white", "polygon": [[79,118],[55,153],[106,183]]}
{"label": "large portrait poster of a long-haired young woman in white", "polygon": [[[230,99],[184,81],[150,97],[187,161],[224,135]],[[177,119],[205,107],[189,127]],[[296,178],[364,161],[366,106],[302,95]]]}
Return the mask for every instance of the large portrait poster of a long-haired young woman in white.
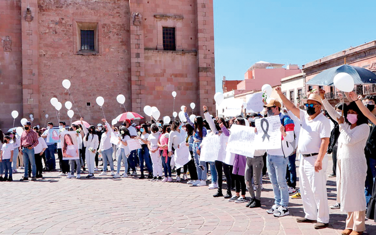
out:
{"label": "large portrait poster of a long-haired young woman in white", "polygon": [[60,142],[61,142],[61,152],[63,155],[63,160],[80,159],[76,131],[60,132]]}

